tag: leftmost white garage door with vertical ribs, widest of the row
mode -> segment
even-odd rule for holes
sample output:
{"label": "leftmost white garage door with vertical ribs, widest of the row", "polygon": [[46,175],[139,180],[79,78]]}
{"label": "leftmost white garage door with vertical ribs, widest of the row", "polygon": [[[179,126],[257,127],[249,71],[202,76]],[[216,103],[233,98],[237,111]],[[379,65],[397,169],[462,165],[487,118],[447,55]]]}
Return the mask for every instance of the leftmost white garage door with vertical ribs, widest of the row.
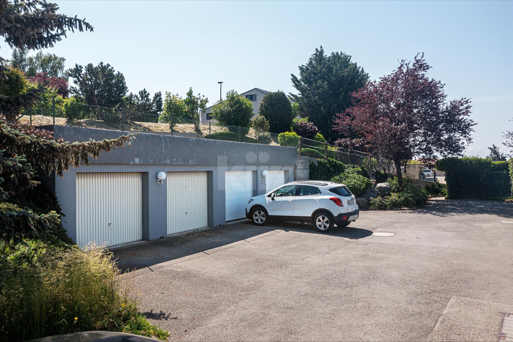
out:
{"label": "leftmost white garage door with vertical ribs, widest of the row", "polygon": [[107,246],[143,238],[142,174],[76,174],[76,243]]}

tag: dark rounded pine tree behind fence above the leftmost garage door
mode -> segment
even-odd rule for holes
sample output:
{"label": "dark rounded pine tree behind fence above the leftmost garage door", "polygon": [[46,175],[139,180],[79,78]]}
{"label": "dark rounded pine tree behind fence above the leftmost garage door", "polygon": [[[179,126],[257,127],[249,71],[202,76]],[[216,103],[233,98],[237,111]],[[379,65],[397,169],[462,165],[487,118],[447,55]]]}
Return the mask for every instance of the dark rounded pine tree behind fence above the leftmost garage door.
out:
{"label": "dark rounded pine tree behind fence above the leftmost garage door", "polygon": [[89,63],[85,68],[75,64],[68,70],[68,76],[76,85],[70,87],[71,94],[92,106],[115,107],[128,91],[123,74],[108,63]]}

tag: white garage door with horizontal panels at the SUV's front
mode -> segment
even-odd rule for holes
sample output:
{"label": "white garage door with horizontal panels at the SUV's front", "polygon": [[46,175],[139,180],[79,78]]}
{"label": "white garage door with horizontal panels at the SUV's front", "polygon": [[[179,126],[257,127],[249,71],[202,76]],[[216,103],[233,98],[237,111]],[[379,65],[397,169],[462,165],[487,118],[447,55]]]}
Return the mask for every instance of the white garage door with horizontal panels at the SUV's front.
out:
{"label": "white garage door with horizontal panels at the SUV's front", "polygon": [[227,171],[225,182],[226,221],[246,217],[246,204],[253,197],[253,172]]}

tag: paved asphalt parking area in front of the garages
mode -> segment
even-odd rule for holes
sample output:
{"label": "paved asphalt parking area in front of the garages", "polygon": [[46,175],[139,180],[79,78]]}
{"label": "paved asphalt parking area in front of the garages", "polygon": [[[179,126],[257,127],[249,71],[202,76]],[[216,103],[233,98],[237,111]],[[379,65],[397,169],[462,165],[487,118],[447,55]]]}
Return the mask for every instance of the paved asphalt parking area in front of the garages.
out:
{"label": "paved asphalt parking area in front of the garages", "polygon": [[330,234],[244,221],[114,254],[170,340],[497,341],[513,313],[513,203],[428,204]]}

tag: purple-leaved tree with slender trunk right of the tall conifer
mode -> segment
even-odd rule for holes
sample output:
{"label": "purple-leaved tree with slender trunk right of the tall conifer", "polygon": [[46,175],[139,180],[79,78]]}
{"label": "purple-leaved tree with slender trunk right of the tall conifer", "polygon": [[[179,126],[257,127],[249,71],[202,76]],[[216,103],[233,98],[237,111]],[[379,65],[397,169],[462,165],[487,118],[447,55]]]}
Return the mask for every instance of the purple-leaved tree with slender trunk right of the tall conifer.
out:
{"label": "purple-leaved tree with slender trunk right of the tall conifer", "polygon": [[[476,123],[470,118],[470,100],[447,101],[444,84],[427,75],[431,67],[424,54],[368,82],[352,93],[352,107],[337,114],[333,129],[348,136],[337,141],[342,146],[366,147],[371,153],[381,149],[400,170],[413,156],[431,161],[437,156],[462,156]],[[398,172],[400,188],[403,187]]]}

